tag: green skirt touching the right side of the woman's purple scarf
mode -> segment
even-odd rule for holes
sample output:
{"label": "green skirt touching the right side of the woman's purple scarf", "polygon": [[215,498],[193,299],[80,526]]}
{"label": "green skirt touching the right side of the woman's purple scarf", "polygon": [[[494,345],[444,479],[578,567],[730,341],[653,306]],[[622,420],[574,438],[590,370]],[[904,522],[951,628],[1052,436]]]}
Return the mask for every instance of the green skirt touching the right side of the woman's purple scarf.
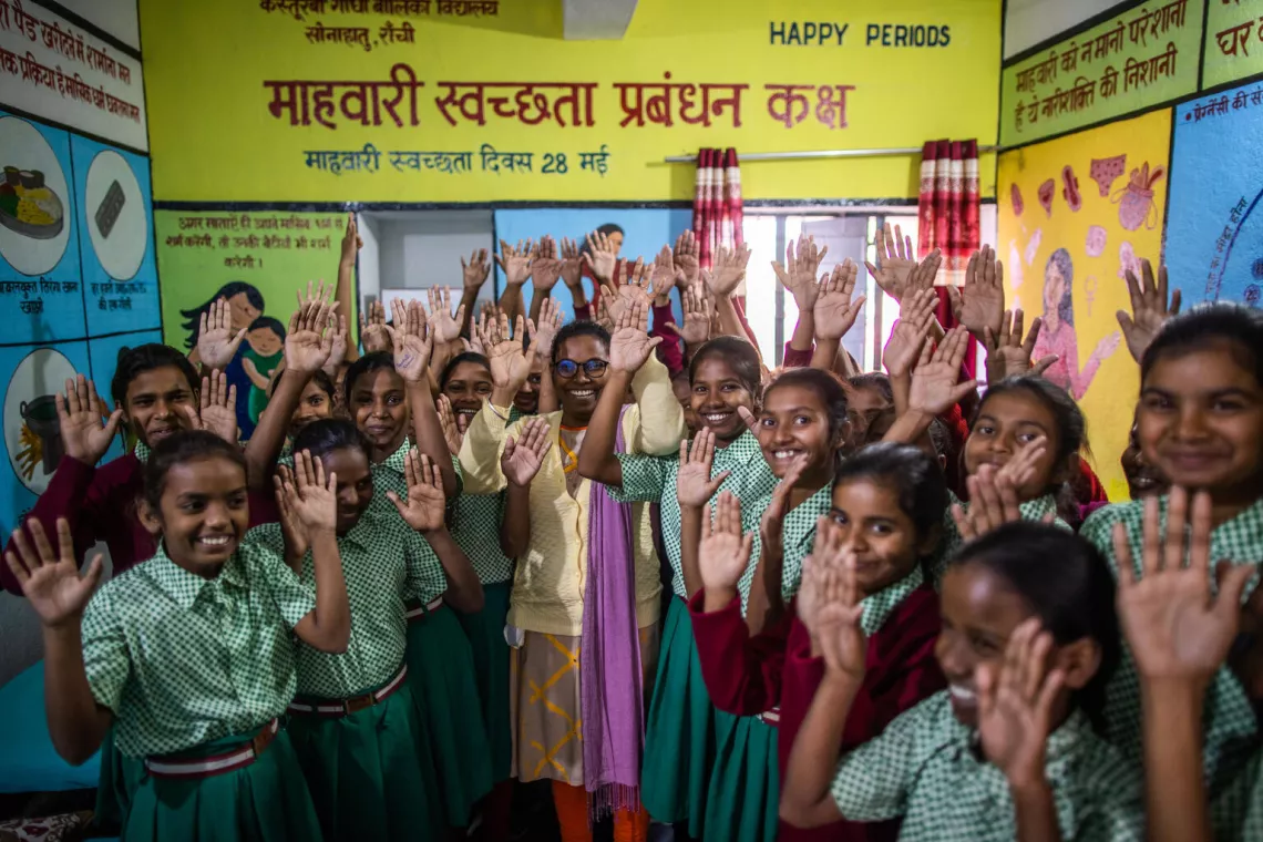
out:
{"label": "green skirt touching the right side of the woman's purple scarf", "polygon": [[688,606],[676,597],[662,629],[640,773],[640,800],[653,821],[688,822],[688,836],[702,838],[715,751],[715,706],[697,660]]}

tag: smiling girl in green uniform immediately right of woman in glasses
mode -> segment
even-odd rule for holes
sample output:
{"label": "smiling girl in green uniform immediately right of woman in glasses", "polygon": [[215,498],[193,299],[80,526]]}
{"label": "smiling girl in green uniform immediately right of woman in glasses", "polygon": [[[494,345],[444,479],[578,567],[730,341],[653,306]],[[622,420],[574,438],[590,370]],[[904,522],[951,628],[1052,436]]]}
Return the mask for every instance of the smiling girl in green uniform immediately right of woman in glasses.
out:
{"label": "smiling girl in green uniform immediately right of woman in glasses", "polygon": [[[621,336],[623,331],[615,333],[616,345]],[[688,622],[687,600],[701,588],[701,576],[696,544],[681,542],[682,511],[703,509],[717,490],[753,504],[775,485],[759,441],[740,414],[758,408],[759,374],[758,353],[748,342],[729,336],[706,342],[688,366],[690,406],[702,428],[692,444],[679,443],[678,458],[615,452],[623,399],[611,390],[601,394],[580,452],[580,475],[604,483],[611,499],[659,506],[677,598],[667,608],[662,632],[640,797],[655,822],[686,823],[692,837],[702,836],[706,815],[715,711]]]}

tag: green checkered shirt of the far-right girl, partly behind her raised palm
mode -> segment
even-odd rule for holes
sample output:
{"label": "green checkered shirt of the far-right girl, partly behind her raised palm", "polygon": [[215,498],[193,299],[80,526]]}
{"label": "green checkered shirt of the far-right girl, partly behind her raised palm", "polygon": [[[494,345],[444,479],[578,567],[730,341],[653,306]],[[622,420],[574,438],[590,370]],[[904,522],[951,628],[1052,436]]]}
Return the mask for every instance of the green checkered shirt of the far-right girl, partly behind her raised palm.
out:
{"label": "green checkered shirt of the far-right girl, partly behind her raised palm", "polygon": [[[1159,523],[1164,530],[1167,497],[1162,496],[1158,504]],[[1104,506],[1087,518],[1080,534],[1109,559],[1116,574],[1118,560],[1114,558],[1111,538],[1114,524],[1124,524],[1132,547],[1139,547],[1143,520],[1143,501]],[[1257,564],[1263,560],[1263,499],[1211,531],[1210,558],[1234,564]],[[1139,552],[1133,553],[1133,560],[1139,564]],[[1139,567],[1135,573],[1142,573]],[[1135,764],[1142,762],[1140,683],[1127,641],[1123,643],[1123,659],[1109,683],[1105,718],[1110,741],[1125,757]],[[1206,691],[1202,736],[1207,788],[1211,798],[1215,798],[1242,770],[1252,751],[1258,750],[1254,709],[1240,682],[1228,667],[1219,669]]]}

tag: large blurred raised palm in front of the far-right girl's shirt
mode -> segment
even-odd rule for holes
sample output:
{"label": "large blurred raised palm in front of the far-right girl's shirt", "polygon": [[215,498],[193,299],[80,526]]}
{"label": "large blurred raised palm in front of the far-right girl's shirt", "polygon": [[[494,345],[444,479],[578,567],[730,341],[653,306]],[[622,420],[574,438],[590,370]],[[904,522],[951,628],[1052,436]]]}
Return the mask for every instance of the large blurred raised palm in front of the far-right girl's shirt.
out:
{"label": "large blurred raised palm in front of the far-right girl's shirt", "polygon": [[1127,529],[1114,526],[1119,620],[1142,675],[1205,685],[1236,637],[1242,595],[1258,566],[1226,567],[1218,593],[1211,592],[1211,502],[1205,491],[1194,496],[1190,519],[1188,492],[1173,486],[1164,534],[1158,520],[1158,499],[1151,497],[1144,501],[1139,578]]}

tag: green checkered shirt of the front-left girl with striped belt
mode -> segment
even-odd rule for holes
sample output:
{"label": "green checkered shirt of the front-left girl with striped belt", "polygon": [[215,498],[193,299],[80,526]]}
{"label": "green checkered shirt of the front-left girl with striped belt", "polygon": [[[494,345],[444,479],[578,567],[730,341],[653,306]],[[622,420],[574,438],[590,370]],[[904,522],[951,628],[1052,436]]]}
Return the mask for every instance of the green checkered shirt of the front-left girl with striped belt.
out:
{"label": "green checkered shirt of the front-left girl with striped belt", "polygon": [[163,755],[258,728],[297,687],[289,630],[314,590],[282,555],[245,540],[213,579],[159,547],[83,612],[83,667],[129,756]]}

